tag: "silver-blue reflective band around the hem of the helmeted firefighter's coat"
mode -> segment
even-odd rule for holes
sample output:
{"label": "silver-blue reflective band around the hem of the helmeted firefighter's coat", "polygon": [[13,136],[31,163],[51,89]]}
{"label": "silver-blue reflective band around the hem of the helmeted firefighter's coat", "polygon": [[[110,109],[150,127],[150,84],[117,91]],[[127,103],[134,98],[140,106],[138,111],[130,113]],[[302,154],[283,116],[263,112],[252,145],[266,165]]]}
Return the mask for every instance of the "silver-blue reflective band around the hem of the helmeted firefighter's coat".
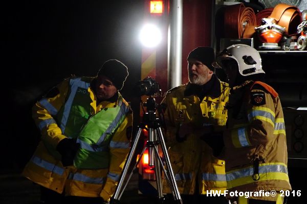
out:
{"label": "silver-blue reflective band around the hem of the helmeted firefighter's coat", "polygon": [[[270,172],[282,172],[288,174],[287,167],[284,165],[272,164],[266,166],[259,166],[259,173],[270,173]],[[234,171],[231,173],[226,173],[226,179],[227,181],[232,181],[239,179],[241,177],[252,176],[253,174],[254,174],[254,168],[250,167],[239,171]]]}

